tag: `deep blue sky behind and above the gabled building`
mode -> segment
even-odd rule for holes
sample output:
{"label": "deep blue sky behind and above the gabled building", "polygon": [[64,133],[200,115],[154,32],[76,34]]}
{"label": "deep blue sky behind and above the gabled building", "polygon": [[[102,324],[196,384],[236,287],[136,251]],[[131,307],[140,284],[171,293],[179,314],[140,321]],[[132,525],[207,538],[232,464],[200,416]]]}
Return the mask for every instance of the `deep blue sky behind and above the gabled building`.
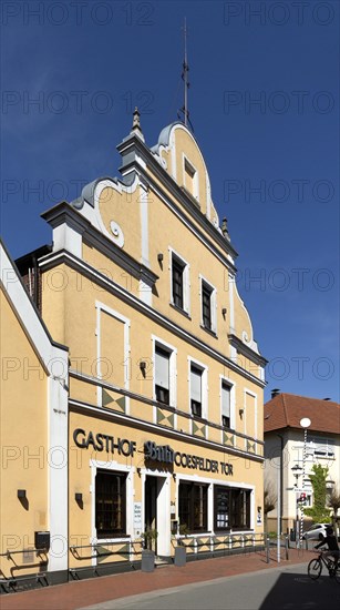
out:
{"label": "deep blue sky behind and above the gabled building", "polygon": [[[189,112],[238,287],[274,387],[339,400],[339,3],[1,4],[1,234],[50,243],[40,214],[117,175],[140,106],[148,145]],[[35,103],[34,103],[35,100]]]}

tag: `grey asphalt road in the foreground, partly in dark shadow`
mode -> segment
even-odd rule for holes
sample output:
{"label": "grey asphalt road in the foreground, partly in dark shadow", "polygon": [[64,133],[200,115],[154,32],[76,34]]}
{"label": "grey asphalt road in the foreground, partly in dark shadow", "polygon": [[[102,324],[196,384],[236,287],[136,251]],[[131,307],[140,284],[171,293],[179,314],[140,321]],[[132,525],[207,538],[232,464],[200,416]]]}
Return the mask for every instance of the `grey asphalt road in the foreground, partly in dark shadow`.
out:
{"label": "grey asphalt road in the foreground, partly in dark shadow", "polygon": [[121,598],[86,610],[339,610],[340,584],[307,576],[307,565],[219,578]]}

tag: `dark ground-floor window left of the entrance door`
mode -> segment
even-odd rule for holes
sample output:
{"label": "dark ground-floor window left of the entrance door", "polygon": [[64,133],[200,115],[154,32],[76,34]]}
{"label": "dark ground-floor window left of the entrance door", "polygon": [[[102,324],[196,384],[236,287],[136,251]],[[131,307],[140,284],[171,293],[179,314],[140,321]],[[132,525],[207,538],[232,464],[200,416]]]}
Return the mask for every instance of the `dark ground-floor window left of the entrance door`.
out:
{"label": "dark ground-floor window left of the entrance door", "polygon": [[126,475],[99,470],[95,477],[97,538],[122,536],[126,529]]}

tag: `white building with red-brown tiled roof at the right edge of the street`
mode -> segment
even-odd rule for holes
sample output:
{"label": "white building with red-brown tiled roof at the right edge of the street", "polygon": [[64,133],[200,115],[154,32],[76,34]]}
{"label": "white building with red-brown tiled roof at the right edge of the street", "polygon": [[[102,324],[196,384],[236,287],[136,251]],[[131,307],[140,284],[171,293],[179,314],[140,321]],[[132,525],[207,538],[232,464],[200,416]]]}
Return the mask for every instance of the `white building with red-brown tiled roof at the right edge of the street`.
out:
{"label": "white building with red-brown tiled roof at the right edge of the street", "polygon": [[[310,419],[306,439],[301,419]],[[309,478],[315,464],[328,467],[328,490],[340,487],[340,405],[328,398],[308,398],[274,390],[265,405],[265,480],[277,492],[280,487],[281,531],[293,528],[300,518],[299,498],[306,494],[306,507],[312,506]],[[303,485],[302,485],[303,479]],[[276,530],[277,509],[268,514],[268,529]]]}

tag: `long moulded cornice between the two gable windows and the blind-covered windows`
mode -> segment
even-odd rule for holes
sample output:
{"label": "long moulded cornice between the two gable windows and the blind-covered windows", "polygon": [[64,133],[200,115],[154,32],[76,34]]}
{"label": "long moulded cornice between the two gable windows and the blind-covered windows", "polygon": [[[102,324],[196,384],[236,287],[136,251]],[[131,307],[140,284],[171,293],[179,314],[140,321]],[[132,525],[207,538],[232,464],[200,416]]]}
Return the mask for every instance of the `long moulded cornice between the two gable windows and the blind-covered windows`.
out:
{"label": "long moulded cornice between the two gable windows and the blind-covered windows", "polygon": [[99,285],[103,286],[106,291],[114,294],[128,305],[133,306],[135,309],[140,311],[142,314],[146,315],[148,318],[151,318],[153,322],[156,322],[171,333],[175,334],[179,338],[186,340],[194,347],[198,348],[200,352],[204,352],[208,356],[215,358],[216,360],[220,362],[224,366],[228,367],[230,370],[234,370],[238,375],[241,375],[249,382],[256,384],[257,386],[264,388],[266,385],[266,382],[259,379],[251,373],[244,369],[241,366],[233,362],[230,358],[221,354],[220,352],[212,348],[200,339],[198,339],[195,335],[192,333],[188,333],[181,326],[178,326],[175,322],[171,321],[164,314],[161,314],[156,309],[154,309],[152,306],[147,305],[146,303],[142,302],[138,297],[131,294],[128,291],[126,291],[123,286],[116,284],[113,279],[109,278],[94,267],[92,267],[89,263],[81,261],[73,254],[70,254],[66,251],[60,251],[55,253],[51,253],[48,256],[44,256],[39,261],[39,266],[42,270],[49,270],[53,268],[58,265],[66,264],[74,271],[78,271],[79,273],[82,273],[85,277],[87,277],[91,282],[96,282]]}

